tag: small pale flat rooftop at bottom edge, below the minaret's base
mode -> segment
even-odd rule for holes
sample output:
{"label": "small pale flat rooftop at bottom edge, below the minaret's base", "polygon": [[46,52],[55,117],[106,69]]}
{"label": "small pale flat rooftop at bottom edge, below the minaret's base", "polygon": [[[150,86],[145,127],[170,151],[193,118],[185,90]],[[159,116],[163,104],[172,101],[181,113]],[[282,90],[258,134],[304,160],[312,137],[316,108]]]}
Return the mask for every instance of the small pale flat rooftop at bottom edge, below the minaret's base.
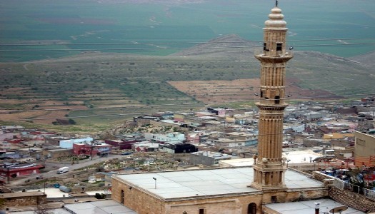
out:
{"label": "small pale flat rooftop at bottom edge, below the minaret's base", "polygon": [[[319,200],[305,200],[299,202],[290,202],[290,203],[271,203],[266,204],[266,208],[270,208],[280,214],[301,214],[301,213],[314,213],[315,204],[320,203],[319,213],[330,213],[329,211],[333,208],[338,208],[342,205],[331,199],[319,199]],[[339,212],[337,212],[339,213]],[[356,210],[354,208],[348,208],[341,212],[341,214],[356,213],[361,214],[363,212]]]}

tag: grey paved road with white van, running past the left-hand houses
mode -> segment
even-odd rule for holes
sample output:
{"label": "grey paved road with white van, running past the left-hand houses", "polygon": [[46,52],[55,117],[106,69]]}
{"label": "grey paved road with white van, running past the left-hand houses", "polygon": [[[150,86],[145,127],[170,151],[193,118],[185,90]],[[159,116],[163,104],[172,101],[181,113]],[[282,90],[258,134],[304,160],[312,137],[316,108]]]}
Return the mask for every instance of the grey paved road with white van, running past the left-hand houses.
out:
{"label": "grey paved road with white van, running past the left-hand houses", "polygon": [[[42,175],[43,178],[59,177],[59,176],[66,175],[66,173],[57,174],[57,170],[59,170],[59,168],[62,167],[62,166],[69,166],[69,172],[68,173],[72,173],[71,172],[72,170],[84,168],[86,166],[93,165],[95,163],[100,163],[100,162],[103,162],[103,161],[108,161],[108,160],[111,160],[111,159],[114,159],[114,158],[124,158],[124,156],[110,155],[110,156],[107,156],[107,157],[96,158],[94,160],[87,161],[87,162],[84,162],[84,163],[76,163],[74,165],[63,165],[63,164],[59,164],[59,163],[52,163],[51,165],[55,166],[56,170],[50,170],[46,173],[30,175],[28,177],[21,178],[21,179],[18,179],[18,180],[11,180],[11,183],[6,184],[6,186],[11,188],[12,186],[14,187],[16,185],[24,185],[26,180],[36,180],[36,177],[38,177],[40,175]],[[50,164],[50,163],[47,163],[47,164]]]}

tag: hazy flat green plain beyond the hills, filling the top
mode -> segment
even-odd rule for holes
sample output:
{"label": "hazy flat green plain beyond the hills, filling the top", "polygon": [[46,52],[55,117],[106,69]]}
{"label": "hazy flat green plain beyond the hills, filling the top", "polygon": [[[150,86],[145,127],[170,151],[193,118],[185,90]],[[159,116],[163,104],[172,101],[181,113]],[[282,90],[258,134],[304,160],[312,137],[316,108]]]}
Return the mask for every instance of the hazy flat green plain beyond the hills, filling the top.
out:
{"label": "hazy flat green plain beyond the hills, filling the top", "polygon": [[[261,41],[261,27],[274,4],[271,0],[99,2],[0,0],[0,61],[59,58],[91,50],[163,56],[226,34]],[[280,7],[290,30],[289,45],[296,50],[344,57],[375,50],[371,44],[375,39],[363,39],[374,38],[375,1],[284,0]]]}

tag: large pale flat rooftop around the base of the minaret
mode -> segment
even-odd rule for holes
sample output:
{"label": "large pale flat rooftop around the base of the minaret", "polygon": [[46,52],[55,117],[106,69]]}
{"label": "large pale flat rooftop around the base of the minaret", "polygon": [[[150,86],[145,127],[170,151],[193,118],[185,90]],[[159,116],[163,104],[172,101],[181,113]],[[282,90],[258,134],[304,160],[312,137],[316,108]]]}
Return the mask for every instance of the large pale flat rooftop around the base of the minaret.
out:
{"label": "large pale flat rooftop around the base of the minaret", "polygon": [[[221,168],[205,170],[184,170],[162,173],[114,175],[135,188],[153,193],[159,198],[175,199],[185,197],[261,193],[248,187],[253,181],[251,167]],[[156,178],[156,180],[154,180]],[[294,170],[287,170],[286,186],[294,188],[322,188],[323,183],[308,178]]]}

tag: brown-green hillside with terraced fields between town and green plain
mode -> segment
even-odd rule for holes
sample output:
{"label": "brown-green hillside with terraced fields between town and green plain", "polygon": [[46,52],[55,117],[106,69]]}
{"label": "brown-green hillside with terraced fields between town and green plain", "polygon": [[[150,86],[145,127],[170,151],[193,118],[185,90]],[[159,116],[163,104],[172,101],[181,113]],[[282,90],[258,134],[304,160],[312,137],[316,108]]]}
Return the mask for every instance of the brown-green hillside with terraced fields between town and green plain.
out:
{"label": "brown-green hillside with terraced fields between town and green plain", "polygon": [[[293,54],[286,70],[286,93],[293,99],[359,98],[375,92],[373,68],[319,52]],[[51,126],[56,118],[74,118],[79,125],[89,124],[89,130],[102,130],[113,121],[156,111],[245,101],[244,108],[259,90],[254,43],[236,35],[172,56],[86,52],[0,63],[0,72],[1,124],[23,120]]]}

